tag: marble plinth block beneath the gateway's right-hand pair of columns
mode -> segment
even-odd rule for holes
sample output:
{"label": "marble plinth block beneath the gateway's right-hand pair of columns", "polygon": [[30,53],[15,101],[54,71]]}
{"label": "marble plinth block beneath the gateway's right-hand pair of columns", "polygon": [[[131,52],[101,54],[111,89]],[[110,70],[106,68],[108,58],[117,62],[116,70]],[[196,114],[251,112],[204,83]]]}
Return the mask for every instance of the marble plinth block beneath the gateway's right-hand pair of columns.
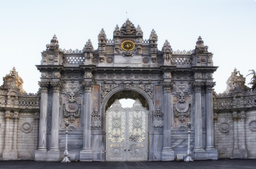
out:
{"label": "marble plinth block beneath the gateway's right-hand pair of columns", "polygon": [[193,150],[192,155],[194,156],[193,159],[218,159],[218,151],[214,150]]}

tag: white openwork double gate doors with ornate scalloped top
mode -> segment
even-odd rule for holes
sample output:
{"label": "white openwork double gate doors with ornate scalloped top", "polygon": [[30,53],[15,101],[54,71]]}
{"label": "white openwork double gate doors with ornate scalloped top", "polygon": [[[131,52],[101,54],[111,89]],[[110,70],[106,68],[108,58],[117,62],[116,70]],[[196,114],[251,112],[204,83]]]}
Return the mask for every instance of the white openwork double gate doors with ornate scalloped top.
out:
{"label": "white openwork double gate doors with ornate scalloped top", "polygon": [[106,113],[106,161],[147,161],[148,110],[138,99],[132,108],[116,99]]}

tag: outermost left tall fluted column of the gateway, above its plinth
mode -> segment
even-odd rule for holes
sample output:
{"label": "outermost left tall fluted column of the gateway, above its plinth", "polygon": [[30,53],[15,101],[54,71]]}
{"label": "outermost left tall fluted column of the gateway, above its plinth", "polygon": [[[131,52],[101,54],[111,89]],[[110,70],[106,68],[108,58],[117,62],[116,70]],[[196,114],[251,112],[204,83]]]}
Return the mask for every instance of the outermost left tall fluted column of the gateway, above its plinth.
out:
{"label": "outermost left tall fluted column of the gateway, above its plinth", "polygon": [[47,132],[47,106],[48,106],[48,85],[49,85],[49,83],[48,82],[39,82],[38,85],[41,87],[38,150],[47,151],[46,132]]}

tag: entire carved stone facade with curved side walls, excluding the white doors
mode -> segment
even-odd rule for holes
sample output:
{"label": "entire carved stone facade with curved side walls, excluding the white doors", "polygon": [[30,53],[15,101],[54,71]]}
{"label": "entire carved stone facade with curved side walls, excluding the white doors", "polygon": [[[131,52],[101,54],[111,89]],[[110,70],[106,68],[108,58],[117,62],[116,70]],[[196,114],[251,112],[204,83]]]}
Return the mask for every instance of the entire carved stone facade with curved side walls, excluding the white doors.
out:
{"label": "entire carved stone facade with curved side walls, excluding the white doors", "polygon": [[[214,92],[212,74],[218,67],[201,37],[193,51],[173,51],[167,40],[159,50],[154,29],[149,39],[143,39],[140,26],[127,20],[115,27],[113,39],[107,39],[102,29],[96,50],[90,39],[83,50],[62,50],[56,35],[46,48],[36,65],[41,72],[38,93],[23,90],[15,68],[4,77],[0,159],[60,161],[64,122],[69,121],[70,158],[108,161],[106,112],[122,98],[138,99],[148,112],[148,148],[143,151],[148,154],[134,149],[126,153],[129,161],[142,156],[171,161],[186,154],[188,121],[193,159],[255,158],[256,93],[244,85],[245,78],[236,69],[227,90]],[[113,136],[118,138],[118,132]],[[136,143],[137,136],[127,136]]]}

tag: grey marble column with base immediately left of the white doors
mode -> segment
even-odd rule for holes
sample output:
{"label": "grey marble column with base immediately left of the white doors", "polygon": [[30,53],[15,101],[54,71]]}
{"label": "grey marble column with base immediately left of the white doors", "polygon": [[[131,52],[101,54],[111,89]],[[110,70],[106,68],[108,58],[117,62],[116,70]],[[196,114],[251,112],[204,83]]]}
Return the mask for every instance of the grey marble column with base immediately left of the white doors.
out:
{"label": "grey marble column with base immediately left of the white doors", "polygon": [[80,151],[80,161],[92,161],[91,148],[91,112],[92,112],[92,88],[91,81],[82,82],[84,86],[84,109],[83,109],[83,148]]}

